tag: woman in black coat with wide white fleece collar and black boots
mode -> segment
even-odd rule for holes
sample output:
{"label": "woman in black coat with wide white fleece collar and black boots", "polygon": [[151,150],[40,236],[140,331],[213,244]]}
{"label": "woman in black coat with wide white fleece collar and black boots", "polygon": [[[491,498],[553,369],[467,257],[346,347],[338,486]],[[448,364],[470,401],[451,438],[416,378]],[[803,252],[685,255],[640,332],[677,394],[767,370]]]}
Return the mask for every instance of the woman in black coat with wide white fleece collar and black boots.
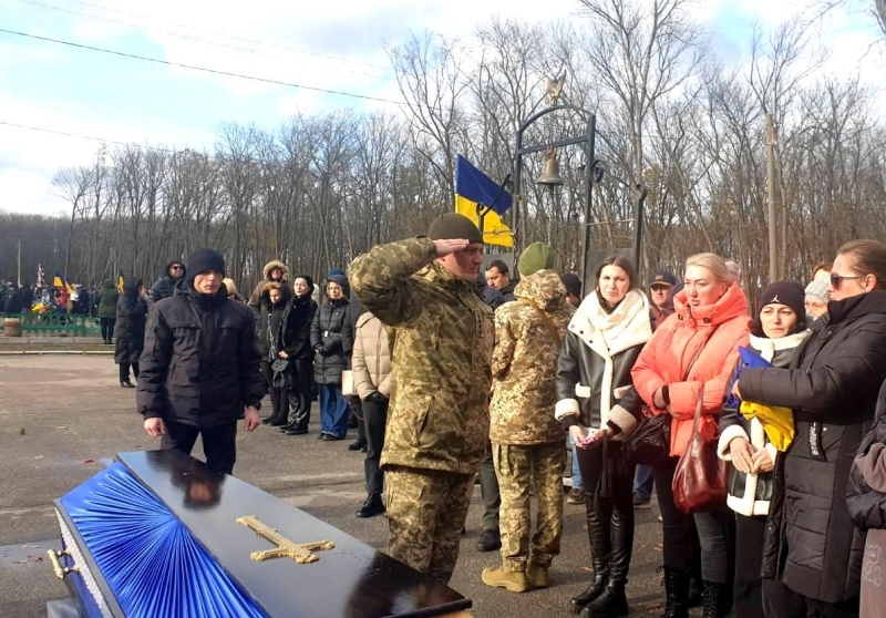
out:
{"label": "woman in black coat with wide white fleece collar and black boots", "polygon": [[649,300],[638,287],[628,258],[605,259],[557,361],[555,416],[578,446],[594,565],[590,587],[571,599],[573,611],[586,617],[628,615],[635,466],[621,465],[621,441],[640,416],[631,369],[652,337]]}

